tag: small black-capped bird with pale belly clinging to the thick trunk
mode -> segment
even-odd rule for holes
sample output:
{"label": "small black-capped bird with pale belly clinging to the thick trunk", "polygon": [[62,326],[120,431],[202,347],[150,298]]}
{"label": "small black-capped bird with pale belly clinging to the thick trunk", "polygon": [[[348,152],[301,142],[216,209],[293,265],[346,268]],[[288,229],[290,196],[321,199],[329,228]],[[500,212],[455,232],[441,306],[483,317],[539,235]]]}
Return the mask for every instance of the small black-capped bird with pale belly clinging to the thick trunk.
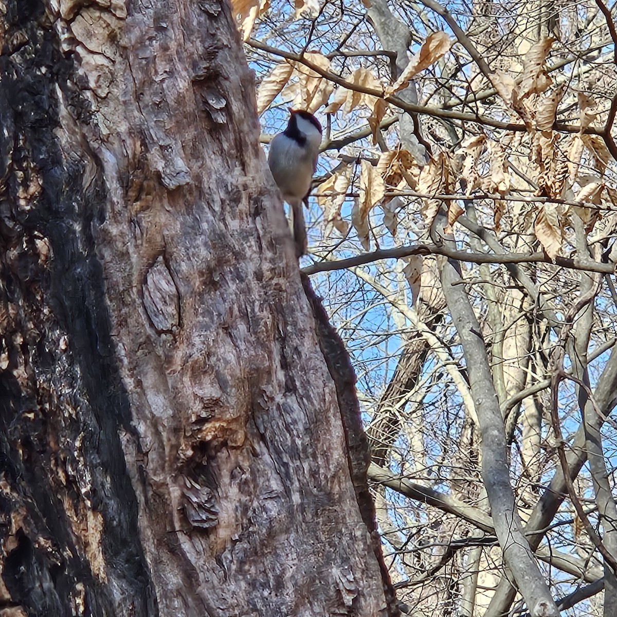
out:
{"label": "small black-capped bird with pale belly clinging to the thick trunk", "polygon": [[296,254],[300,257],[307,252],[302,202],[309,205],[310,184],[321,144],[321,125],[309,112],[289,111],[287,128],[270,143],[268,165],[283,199],[291,207]]}

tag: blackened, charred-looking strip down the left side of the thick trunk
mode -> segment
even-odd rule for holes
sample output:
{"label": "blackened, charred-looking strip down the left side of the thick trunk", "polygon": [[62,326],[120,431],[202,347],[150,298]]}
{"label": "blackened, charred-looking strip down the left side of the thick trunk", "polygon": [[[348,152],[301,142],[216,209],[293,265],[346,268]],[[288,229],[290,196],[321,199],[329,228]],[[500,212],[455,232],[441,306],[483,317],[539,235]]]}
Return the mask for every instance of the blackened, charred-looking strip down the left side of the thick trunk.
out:
{"label": "blackened, charred-looking strip down the left side of the thick trunk", "polygon": [[[30,523],[15,530],[2,577],[30,615],[71,615],[77,597],[86,614],[119,614],[118,589],[131,598],[123,611],[157,615],[118,437],[122,429],[131,434],[128,401],[91,233],[106,189],[100,176],[83,188],[89,152],[65,160],[54,133],[57,86],[76,118],[87,118],[88,105],[72,81],[72,60],[39,19],[43,3],[7,2],[7,15],[28,41],[0,57],[0,296],[15,309],[4,324],[11,370],[0,372],[0,435],[5,467],[15,471],[5,473],[5,507]],[[40,191],[28,188],[35,178]],[[86,513],[102,526],[99,540],[84,532]],[[107,581],[91,570],[82,541],[99,542],[91,549]]]}

